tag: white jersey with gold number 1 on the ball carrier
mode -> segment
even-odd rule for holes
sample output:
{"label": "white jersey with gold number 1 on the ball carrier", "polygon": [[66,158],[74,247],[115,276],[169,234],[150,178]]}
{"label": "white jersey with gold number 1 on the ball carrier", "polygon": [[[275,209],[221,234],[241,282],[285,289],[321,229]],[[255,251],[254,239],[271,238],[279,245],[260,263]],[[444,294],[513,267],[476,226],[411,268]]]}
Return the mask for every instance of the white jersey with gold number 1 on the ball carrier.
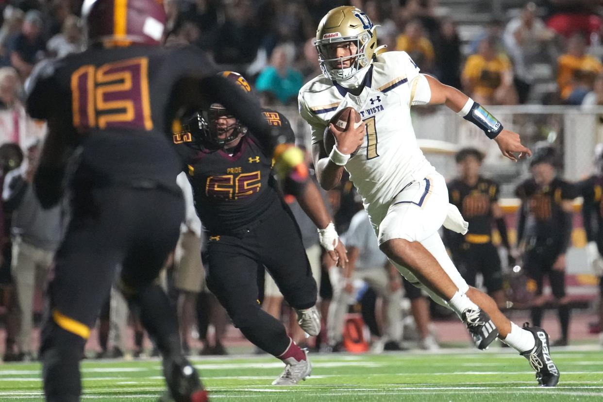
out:
{"label": "white jersey with gold number 1 on the ball carrier", "polygon": [[365,75],[359,96],[324,75],[300,90],[300,115],[311,125],[312,144],[323,140],[330,118],[339,110],[352,106],[360,112],[367,135],[346,170],[369,214],[387,208],[406,184],[435,171],[412,128],[410,107],[418,75],[419,68],[406,52],[385,52]]}

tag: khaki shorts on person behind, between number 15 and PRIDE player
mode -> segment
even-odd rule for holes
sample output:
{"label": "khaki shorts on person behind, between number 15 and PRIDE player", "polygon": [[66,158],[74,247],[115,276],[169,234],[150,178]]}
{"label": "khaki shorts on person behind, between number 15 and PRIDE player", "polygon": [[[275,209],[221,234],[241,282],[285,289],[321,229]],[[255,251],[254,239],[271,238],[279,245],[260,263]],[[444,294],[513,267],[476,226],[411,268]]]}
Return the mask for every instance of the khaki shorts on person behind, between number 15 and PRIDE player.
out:
{"label": "khaki shorts on person behind, between number 15 and PRIDE player", "polygon": [[174,258],[174,287],[180,291],[201,292],[205,284],[201,239],[191,231],[180,234]]}

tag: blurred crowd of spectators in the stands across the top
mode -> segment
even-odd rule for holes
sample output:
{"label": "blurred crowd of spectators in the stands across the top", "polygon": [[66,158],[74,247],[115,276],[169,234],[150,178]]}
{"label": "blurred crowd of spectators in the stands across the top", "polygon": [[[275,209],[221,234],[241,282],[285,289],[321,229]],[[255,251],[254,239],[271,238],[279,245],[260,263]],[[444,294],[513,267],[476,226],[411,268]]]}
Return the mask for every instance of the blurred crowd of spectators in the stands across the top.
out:
{"label": "blurred crowd of spectators in the stands across the top", "polygon": [[[437,0],[165,0],[167,40],[205,49],[224,69],[256,83],[265,102],[294,105],[297,90],[320,72],[312,40],[321,17],[348,3],[379,25],[380,44],[408,52],[423,72],[484,104],[581,104],[602,70],[603,5],[596,0],[529,2],[462,40],[459,16],[447,15]],[[23,83],[42,58],[80,51],[80,4],[5,2],[0,66],[14,68]],[[543,64],[558,90],[531,97]]]}

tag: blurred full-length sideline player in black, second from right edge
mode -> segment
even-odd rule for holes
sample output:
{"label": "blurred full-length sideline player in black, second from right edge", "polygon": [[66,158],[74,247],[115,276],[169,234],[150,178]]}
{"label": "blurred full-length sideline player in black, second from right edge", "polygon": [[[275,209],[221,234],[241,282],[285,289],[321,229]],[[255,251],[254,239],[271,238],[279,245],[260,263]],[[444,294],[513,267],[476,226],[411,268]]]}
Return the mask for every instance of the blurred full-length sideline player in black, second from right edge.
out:
{"label": "blurred full-length sideline player in black, second from right edge", "polygon": [[528,290],[535,293],[531,310],[532,325],[542,321],[543,278],[549,283],[558,303],[561,338],[553,345],[567,345],[569,297],[565,289],[566,251],[572,234],[572,202],[575,186],[557,176],[555,149],[545,143],[536,146],[530,160],[532,178],[515,190],[522,200],[517,222],[517,244],[523,242],[523,265],[528,275]]}

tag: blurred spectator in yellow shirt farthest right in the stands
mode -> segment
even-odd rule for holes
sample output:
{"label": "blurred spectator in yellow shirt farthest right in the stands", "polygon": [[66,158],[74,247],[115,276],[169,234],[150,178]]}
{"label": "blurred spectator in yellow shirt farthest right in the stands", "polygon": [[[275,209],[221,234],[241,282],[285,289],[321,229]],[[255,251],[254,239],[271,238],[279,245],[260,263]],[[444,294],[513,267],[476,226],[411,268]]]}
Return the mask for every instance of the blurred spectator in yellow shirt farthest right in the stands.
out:
{"label": "blurred spectator in yellow shirt farthest right in the stands", "polygon": [[603,64],[586,54],[586,40],[575,34],[567,42],[567,53],[558,60],[557,84],[561,100],[581,104],[584,96],[593,89],[596,76],[603,72]]}

